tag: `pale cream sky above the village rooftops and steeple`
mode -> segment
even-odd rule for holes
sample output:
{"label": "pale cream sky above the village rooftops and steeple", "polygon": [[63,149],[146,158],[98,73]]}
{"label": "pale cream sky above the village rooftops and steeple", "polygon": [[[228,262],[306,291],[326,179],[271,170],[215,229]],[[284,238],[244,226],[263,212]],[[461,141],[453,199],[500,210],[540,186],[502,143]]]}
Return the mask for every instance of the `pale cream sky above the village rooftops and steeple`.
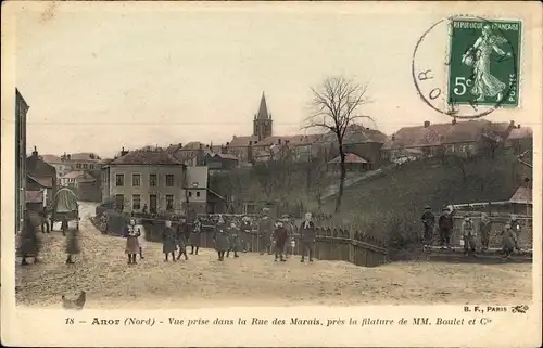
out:
{"label": "pale cream sky above the village rooftops and steeple", "polygon": [[[527,21],[519,8],[510,7],[509,17]],[[367,127],[391,134],[425,120],[450,121],[417,95],[412,57],[420,36],[451,10],[408,3],[27,4],[17,12],[15,33],[15,83],[30,106],[27,147],[105,157],[123,146],[226,143],[251,134],[263,92],[274,133],[303,133],[311,88],[333,76],[368,83],[371,103],[357,111],[376,120]],[[530,40],[523,43],[530,52]],[[424,52],[424,60],[443,61],[440,44]],[[523,57],[522,68],[531,69],[531,55]],[[521,85],[522,107],[487,119],[540,124],[533,85]]]}

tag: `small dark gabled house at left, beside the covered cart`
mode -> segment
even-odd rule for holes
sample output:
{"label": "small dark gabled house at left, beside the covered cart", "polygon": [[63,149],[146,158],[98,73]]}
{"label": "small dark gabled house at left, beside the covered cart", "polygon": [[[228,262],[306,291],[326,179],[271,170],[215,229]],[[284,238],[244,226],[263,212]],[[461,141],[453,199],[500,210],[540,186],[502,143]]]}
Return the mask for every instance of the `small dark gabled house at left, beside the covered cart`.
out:
{"label": "small dark gabled house at left, beside the covered cart", "polygon": [[41,159],[36,146],[31,155],[26,158],[26,178],[28,190],[42,191],[45,204],[51,204],[58,189],[56,169]]}

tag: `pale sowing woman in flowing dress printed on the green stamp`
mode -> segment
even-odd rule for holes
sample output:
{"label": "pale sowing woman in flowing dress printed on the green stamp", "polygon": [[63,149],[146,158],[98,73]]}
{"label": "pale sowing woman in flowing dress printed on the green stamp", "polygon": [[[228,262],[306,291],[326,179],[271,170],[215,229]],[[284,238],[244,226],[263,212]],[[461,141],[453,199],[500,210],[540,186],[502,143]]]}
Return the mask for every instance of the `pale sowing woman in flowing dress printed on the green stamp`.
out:
{"label": "pale sowing woman in flowing dress printed on the green stamp", "polygon": [[[463,63],[473,66],[473,88],[471,93],[478,95],[477,101],[484,101],[485,98],[496,98],[496,101],[503,99],[506,85],[500,81],[491,74],[492,52],[501,56],[510,56],[512,53],[505,53],[498,46],[507,42],[504,38],[492,34],[489,25],[483,26],[482,35],[477,39],[472,47],[463,55]],[[475,56],[473,56],[475,55]]]}

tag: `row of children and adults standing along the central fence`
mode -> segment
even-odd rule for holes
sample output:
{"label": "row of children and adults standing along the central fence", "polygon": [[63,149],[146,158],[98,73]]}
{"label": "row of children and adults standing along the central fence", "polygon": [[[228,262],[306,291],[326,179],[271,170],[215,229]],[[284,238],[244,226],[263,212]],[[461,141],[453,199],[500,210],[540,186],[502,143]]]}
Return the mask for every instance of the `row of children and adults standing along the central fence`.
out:
{"label": "row of children and adults standing along the central fence", "polygon": [[[198,255],[202,240],[203,224],[200,218],[197,218],[190,225],[185,218],[181,218],[176,227],[173,227],[173,221],[166,220],[165,228],[162,231],[162,252],[164,254],[164,262],[168,262],[169,258],[176,262],[181,257],[185,260],[189,259],[187,248],[190,247],[190,255]],[[292,255],[295,247],[293,237],[294,225],[290,217],[282,216],[277,221],[269,217],[269,209],[263,210],[262,218],[256,223],[257,227],[257,248],[260,255],[274,255],[275,261],[287,261],[287,258]],[[240,253],[253,252],[252,246],[252,229],[253,224],[250,218],[244,216],[241,219],[227,220],[224,216],[218,216],[214,223],[213,243],[217,253],[217,260],[224,261],[225,257],[238,258]],[[305,261],[305,256],[308,256],[308,261],[313,262],[315,254],[316,225],[312,221],[311,212],[305,214],[305,219],[300,229],[300,246],[302,249],[301,262]],[[137,256],[143,259],[143,237],[144,229],[141,222],[136,218],[131,218],[128,225],[125,228],[126,249],[128,263],[137,263]]]}

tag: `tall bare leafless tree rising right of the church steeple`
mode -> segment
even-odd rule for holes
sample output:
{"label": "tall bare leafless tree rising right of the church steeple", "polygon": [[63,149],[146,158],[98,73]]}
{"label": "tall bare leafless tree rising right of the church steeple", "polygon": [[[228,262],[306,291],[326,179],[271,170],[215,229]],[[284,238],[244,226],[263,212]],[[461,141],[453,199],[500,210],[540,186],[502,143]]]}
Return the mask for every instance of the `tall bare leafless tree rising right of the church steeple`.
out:
{"label": "tall bare leafless tree rising right of the church steeple", "polygon": [[343,197],[343,189],[346,178],[345,152],[343,140],[345,132],[358,118],[369,118],[369,116],[356,115],[356,109],[369,103],[366,92],[368,85],[358,85],[344,77],[326,78],[319,88],[312,88],[312,106],[314,113],[307,117],[306,128],[319,128],[326,132],[334,134],[338,142],[340,155],[340,190],[336,202],[336,212],[340,210]]}

